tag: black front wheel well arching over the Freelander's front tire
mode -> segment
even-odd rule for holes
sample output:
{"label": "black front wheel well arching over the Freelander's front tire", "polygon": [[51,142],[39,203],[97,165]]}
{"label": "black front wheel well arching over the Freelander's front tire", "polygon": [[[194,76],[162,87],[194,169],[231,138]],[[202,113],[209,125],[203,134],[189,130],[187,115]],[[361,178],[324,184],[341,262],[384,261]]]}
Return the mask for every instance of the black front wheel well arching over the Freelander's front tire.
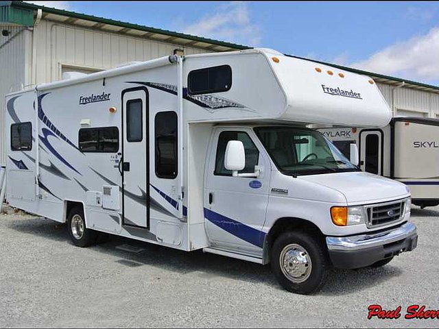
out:
{"label": "black front wheel well arching over the Freelander's front tire", "polygon": [[311,223],[311,221],[307,221],[306,219],[294,218],[294,217],[284,217],[278,219],[270,232],[265,236],[265,240],[263,243],[263,264],[270,263],[270,254],[274,241],[276,241],[277,237],[283,234],[284,232],[300,230],[305,232],[310,232],[318,236],[318,239],[324,243],[324,234],[316,224]]}

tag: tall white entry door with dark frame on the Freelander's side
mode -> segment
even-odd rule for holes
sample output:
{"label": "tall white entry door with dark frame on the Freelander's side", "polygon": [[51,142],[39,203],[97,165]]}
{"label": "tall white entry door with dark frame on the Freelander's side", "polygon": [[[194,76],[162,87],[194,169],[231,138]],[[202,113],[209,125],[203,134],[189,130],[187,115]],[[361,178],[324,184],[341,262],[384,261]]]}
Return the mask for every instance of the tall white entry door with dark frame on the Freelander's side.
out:
{"label": "tall white entry door with dark frame on the Freelander's side", "polygon": [[122,92],[123,224],[150,228],[148,96],[144,87]]}

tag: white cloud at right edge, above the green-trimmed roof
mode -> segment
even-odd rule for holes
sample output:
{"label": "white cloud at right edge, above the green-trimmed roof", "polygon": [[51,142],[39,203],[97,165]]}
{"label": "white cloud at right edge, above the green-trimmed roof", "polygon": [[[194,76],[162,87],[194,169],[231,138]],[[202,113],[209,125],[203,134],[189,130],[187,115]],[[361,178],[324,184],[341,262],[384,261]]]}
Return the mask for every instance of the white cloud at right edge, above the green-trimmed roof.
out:
{"label": "white cloud at right edge, above the green-trimmed roof", "polygon": [[395,43],[367,60],[350,64],[357,69],[397,75],[411,80],[437,82],[439,77],[439,27],[427,34]]}

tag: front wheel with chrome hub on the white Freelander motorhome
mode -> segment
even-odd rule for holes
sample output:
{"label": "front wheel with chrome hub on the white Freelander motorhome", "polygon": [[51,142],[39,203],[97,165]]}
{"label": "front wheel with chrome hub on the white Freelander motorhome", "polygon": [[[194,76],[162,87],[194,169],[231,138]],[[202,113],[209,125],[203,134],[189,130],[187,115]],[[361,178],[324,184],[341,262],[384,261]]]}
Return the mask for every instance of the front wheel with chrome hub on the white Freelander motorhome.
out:
{"label": "front wheel with chrome hub on the white Freelander motorhome", "polygon": [[[294,266],[294,260],[301,264]],[[316,236],[300,231],[278,236],[272,246],[271,265],[284,289],[302,295],[318,291],[324,284],[330,267],[327,251],[322,243]],[[296,273],[288,274],[289,271]]]}

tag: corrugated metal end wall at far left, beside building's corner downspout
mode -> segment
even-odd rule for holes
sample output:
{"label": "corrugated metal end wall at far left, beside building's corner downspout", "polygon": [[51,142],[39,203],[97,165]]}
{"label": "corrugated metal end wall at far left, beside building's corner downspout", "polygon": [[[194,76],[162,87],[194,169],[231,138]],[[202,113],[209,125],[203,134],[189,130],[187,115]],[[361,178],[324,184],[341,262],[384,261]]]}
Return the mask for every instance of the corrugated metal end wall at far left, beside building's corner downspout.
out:
{"label": "corrugated metal end wall at far left, beside building's corner downspout", "polygon": [[27,84],[27,68],[29,62],[29,32],[24,27],[0,25],[11,34],[2,37],[0,43],[0,164],[5,164],[5,95],[21,89]]}

